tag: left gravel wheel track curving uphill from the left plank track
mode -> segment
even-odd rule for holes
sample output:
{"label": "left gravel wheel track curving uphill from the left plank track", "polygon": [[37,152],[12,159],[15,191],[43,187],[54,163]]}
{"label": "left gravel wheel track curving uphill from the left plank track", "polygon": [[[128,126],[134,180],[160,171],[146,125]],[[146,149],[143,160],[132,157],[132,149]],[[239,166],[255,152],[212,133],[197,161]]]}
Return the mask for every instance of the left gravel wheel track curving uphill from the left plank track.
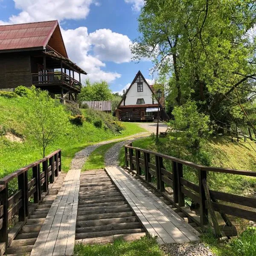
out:
{"label": "left gravel wheel track curving uphill from the left plank track", "polygon": [[[86,148],[84,148],[83,150],[77,152],[75,154],[75,157],[73,158],[72,162],[71,162],[71,167],[70,169],[81,169],[84,166],[85,161],[87,160],[87,158],[89,157],[89,155],[99,146],[101,145],[105,145],[111,142],[118,142],[120,140],[134,140],[135,138],[141,138],[141,137],[145,137],[146,135],[149,135],[149,133],[147,132],[142,132],[142,133],[138,133],[138,134],[134,134],[128,137],[124,137],[124,138],[119,138],[119,139],[114,139],[114,140],[107,140],[107,141],[102,141],[100,143],[94,144],[94,145],[90,145],[87,146]],[[120,142],[120,143],[126,143],[124,141]],[[118,143],[119,144],[119,143]],[[121,144],[120,144],[121,145]],[[121,148],[122,146],[120,146]],[[118,159],[118,154],[119,151],[117,152],[117,159]]]}

